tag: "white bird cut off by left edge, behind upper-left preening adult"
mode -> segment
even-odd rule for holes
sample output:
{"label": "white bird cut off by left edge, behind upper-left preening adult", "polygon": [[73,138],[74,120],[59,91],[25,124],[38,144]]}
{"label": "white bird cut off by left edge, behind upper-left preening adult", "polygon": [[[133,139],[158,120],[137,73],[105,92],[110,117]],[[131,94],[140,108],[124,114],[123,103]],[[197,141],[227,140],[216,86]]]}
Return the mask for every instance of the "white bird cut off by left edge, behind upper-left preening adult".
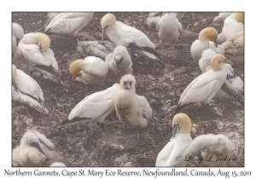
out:
{"label": "white bird cut off by left edge, behind upper-left preening adult", "polygon": [[13,41],[12,41],[12,63],[17,67],[20,68],[22,64],[22,59],[21,59],[21,50],[17,46],[18,43],[20,42],[20,39],[23,38],[24,36],[24,30],[22,26],[19,24],[16,24],[13,22],[12,24],[12,31],[13,31]]}

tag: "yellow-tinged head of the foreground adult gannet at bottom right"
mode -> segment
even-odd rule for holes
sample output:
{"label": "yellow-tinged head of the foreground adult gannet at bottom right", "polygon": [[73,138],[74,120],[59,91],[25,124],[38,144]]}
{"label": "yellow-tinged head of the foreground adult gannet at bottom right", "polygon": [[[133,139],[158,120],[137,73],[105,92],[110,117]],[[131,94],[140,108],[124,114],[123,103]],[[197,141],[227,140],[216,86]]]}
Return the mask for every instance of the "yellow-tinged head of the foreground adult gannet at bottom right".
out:
{"label": "yellow-tinged head of the foreground adult gannet at bottom right", "polygon": [[177,113],[172,119],[172,137],[177,133],[190,133],[191,120],[185,113]]}

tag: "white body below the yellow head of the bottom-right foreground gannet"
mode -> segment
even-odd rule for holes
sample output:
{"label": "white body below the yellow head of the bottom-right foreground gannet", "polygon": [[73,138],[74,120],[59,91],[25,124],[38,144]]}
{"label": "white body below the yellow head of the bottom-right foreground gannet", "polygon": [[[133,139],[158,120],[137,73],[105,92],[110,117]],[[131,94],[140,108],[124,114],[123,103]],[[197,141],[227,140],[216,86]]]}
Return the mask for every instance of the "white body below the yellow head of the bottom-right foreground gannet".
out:
{"label": "white body below the yellow head of the bottom-right foreground gannet", "polygon": [[185,150],[189,147],[192,138],[190,134],[177,133],[175,137],[166,144],[157,156],[155,166],[186,166]]}

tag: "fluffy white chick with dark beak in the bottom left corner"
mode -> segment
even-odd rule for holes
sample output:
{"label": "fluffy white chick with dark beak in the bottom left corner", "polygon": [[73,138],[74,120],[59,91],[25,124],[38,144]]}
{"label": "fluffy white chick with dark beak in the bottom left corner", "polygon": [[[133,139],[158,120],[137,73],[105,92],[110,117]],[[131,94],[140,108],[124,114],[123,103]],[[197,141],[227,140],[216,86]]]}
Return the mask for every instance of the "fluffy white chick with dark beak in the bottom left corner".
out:
{"label": "fluffy white chick with dark beak in the bottom left corner", "polygon": [[13,150],[13,165],[15,166],[40,166],[48,157],[49,149],[54,144],[43,134],[36,130],[27,130],[20,146]]}

